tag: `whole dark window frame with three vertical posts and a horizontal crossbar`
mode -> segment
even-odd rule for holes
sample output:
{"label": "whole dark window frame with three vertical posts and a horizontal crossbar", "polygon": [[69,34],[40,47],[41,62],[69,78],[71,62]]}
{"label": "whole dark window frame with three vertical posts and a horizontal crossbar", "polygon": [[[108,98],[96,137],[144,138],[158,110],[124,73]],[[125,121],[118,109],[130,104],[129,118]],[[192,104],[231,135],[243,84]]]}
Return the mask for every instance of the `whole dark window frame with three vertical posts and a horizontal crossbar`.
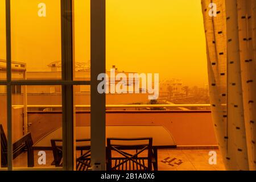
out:
{"label": "whole dark window frame with three vertical posts and a horizontal crossbar", "polygon": [[[105,73],[105,0],[90,0],[90,81],[75,81],[73,68],[73,1],[61,2],[61,80],[12,80],[11,79],[11,0],[6,0],[6,85],[7,89],[7,170],[13,168],[12,143],[12,89],[13,85],[61,85],[63,126],[63,168],[19,168],[19,170],[68,170],[75,169],[73,85],[90,85],[91,91],[91,151],[92,164],[99,163],[105,170],[105,94],[97,92],[97,75]],[[2,168],[0,168],[2,170]]]}

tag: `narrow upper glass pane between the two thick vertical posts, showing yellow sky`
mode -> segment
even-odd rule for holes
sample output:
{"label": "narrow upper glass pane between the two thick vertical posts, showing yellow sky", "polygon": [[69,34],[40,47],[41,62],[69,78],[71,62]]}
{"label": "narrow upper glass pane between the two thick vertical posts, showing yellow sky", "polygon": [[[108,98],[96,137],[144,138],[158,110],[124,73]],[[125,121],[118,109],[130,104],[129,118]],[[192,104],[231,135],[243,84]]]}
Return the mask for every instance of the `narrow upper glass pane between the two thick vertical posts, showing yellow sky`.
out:
{"label": "narrow upper glass pane between the two thick vertical posts, showing yellow sky", "polygon": [[74,1],[74,80],[90,80],[90,1]]}

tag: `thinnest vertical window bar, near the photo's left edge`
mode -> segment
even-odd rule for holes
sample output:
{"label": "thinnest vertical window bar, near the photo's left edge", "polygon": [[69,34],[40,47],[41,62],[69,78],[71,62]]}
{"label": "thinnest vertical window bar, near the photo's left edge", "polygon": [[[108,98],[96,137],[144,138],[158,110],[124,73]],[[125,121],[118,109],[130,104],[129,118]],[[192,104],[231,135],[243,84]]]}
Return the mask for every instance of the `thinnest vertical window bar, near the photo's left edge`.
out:
{"label": "thinnest vertical window bar, near the photo's left edge", "polygon": [[7,164],[13,169],[13,139],[11,123],[11,6],[6,0],[6,77],[7,77]]}

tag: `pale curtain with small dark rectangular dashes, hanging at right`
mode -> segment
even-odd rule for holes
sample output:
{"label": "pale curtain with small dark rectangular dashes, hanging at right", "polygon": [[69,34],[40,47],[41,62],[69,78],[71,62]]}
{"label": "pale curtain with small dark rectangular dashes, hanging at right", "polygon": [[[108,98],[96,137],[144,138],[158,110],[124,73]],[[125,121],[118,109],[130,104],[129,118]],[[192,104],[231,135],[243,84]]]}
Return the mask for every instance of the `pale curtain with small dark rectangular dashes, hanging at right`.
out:
{"label": "pale curtain with small dark rectangular dashes, hanging at right", "polygon": [[210,103],[227,170],[256,169],[256,0],[202,0]]}

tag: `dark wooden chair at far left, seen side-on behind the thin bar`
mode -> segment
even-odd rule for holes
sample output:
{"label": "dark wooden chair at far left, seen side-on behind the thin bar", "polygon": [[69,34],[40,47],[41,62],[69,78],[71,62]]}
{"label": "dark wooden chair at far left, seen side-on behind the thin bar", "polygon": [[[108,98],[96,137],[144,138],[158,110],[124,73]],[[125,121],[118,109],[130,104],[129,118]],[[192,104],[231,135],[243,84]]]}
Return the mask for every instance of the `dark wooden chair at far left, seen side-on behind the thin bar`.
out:
{"label": "dark wooden chair at far left, seen side-on behind the thin bar", "polygon": [[[1,133],[1,166],[7,167],[7,138],[2,125],[0,125]],[[27,133],[18,141],[13,143],[13,159],[18,157],[22,152],[27,152],[27,166],[34,167],[34,151],[32,149],[33,141],[31,133]]]}

